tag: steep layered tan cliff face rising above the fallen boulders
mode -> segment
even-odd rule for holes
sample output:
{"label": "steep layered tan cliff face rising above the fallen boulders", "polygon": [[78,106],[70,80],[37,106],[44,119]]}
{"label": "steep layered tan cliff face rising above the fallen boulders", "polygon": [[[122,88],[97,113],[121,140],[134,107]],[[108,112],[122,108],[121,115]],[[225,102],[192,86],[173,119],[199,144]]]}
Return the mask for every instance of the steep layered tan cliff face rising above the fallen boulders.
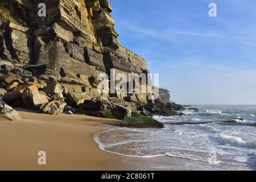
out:
{"label": "steep layered tan cliff face rising above the fallen boulders", "polygon": [[[46,17],[38,16],[42,2]],[[111,68],[126,73],[147,69],[146,61],[118,42],[106,0],[1,0],[0,6],[1,64],[27,66],[36,77],[86,90],[93,87],[90,80]]]}

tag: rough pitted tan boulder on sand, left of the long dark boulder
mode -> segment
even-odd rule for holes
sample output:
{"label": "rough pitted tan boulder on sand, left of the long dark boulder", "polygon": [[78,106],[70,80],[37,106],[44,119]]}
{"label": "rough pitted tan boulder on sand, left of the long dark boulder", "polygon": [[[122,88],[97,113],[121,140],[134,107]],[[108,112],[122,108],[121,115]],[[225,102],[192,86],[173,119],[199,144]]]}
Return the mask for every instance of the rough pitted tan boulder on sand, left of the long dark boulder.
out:
{"label": "rough pitted tan boulder on sand, left of the long dark boulder", "polygon": [[67,107],[67,104],[61,100],[51,101],[46,106],[44,106],[42,113],[57,115],[63,113],[65,107]]}

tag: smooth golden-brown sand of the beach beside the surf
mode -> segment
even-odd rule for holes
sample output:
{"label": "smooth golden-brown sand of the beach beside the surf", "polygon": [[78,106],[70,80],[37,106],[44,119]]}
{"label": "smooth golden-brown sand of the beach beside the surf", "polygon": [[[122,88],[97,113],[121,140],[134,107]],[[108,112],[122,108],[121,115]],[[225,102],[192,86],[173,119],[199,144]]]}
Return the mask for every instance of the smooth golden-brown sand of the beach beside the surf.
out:
{"label": "smooth golden-brown sand of the beach beside the surf", "polygon": [[[122,156],[101,151],[93,134],[113,119],[46,115],[18,109],[23,119],[0,121],[0,170],[128,170]],[[46,152],[46,165],[38,152]]]}

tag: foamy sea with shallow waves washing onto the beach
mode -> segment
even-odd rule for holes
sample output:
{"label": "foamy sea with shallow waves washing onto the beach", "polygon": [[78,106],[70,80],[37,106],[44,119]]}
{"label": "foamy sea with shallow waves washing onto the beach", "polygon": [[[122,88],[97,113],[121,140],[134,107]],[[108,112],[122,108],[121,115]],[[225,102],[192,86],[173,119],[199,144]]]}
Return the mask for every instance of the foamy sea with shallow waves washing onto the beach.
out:
{"label": "foamy sea with shallow waves washing onto the beach", "polygon": [[[180,169],[256,170],[256,105],[193,107],[200,111],[187,109],[183,116],[154,116],[164,123],[164,129],[102,125],[106,130],[94,134],[94,140],[101,150],[134,159],[164,156],[159,163],[154,159],[154,168],[146,169],[176,169],[168,163],[161,165],[168,157],[189,163],[189,168],[177,163]],[[237,123],[225,122],[232,119]]]}

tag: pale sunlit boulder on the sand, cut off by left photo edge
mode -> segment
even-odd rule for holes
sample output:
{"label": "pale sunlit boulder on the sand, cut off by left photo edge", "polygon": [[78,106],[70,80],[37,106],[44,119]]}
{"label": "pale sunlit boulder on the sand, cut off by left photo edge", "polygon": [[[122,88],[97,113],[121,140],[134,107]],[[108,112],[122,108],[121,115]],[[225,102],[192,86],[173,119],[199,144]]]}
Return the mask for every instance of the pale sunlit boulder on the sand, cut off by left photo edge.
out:
{"label": "pale sunlit boulder on the sand, cut off by left photo edge", "polygon": [[7,105],[4,101],[0,101],[0,117],[13,121],[14,119],[21,119],[20,115],[13,107]]}

